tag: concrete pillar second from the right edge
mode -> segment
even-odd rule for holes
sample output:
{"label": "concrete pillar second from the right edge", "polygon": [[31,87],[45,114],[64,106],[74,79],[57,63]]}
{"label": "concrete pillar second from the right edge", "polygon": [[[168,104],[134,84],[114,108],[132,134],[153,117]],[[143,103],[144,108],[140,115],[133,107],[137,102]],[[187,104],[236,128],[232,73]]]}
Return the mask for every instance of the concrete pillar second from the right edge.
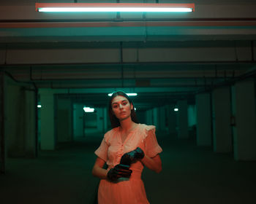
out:
{"label": "concrete pillar second from the right edge", "polygon": [[214,152],[232,152],[232,131],[230,126],[231,103],[230,88],[223,87],[213,91],[213,145]]}

